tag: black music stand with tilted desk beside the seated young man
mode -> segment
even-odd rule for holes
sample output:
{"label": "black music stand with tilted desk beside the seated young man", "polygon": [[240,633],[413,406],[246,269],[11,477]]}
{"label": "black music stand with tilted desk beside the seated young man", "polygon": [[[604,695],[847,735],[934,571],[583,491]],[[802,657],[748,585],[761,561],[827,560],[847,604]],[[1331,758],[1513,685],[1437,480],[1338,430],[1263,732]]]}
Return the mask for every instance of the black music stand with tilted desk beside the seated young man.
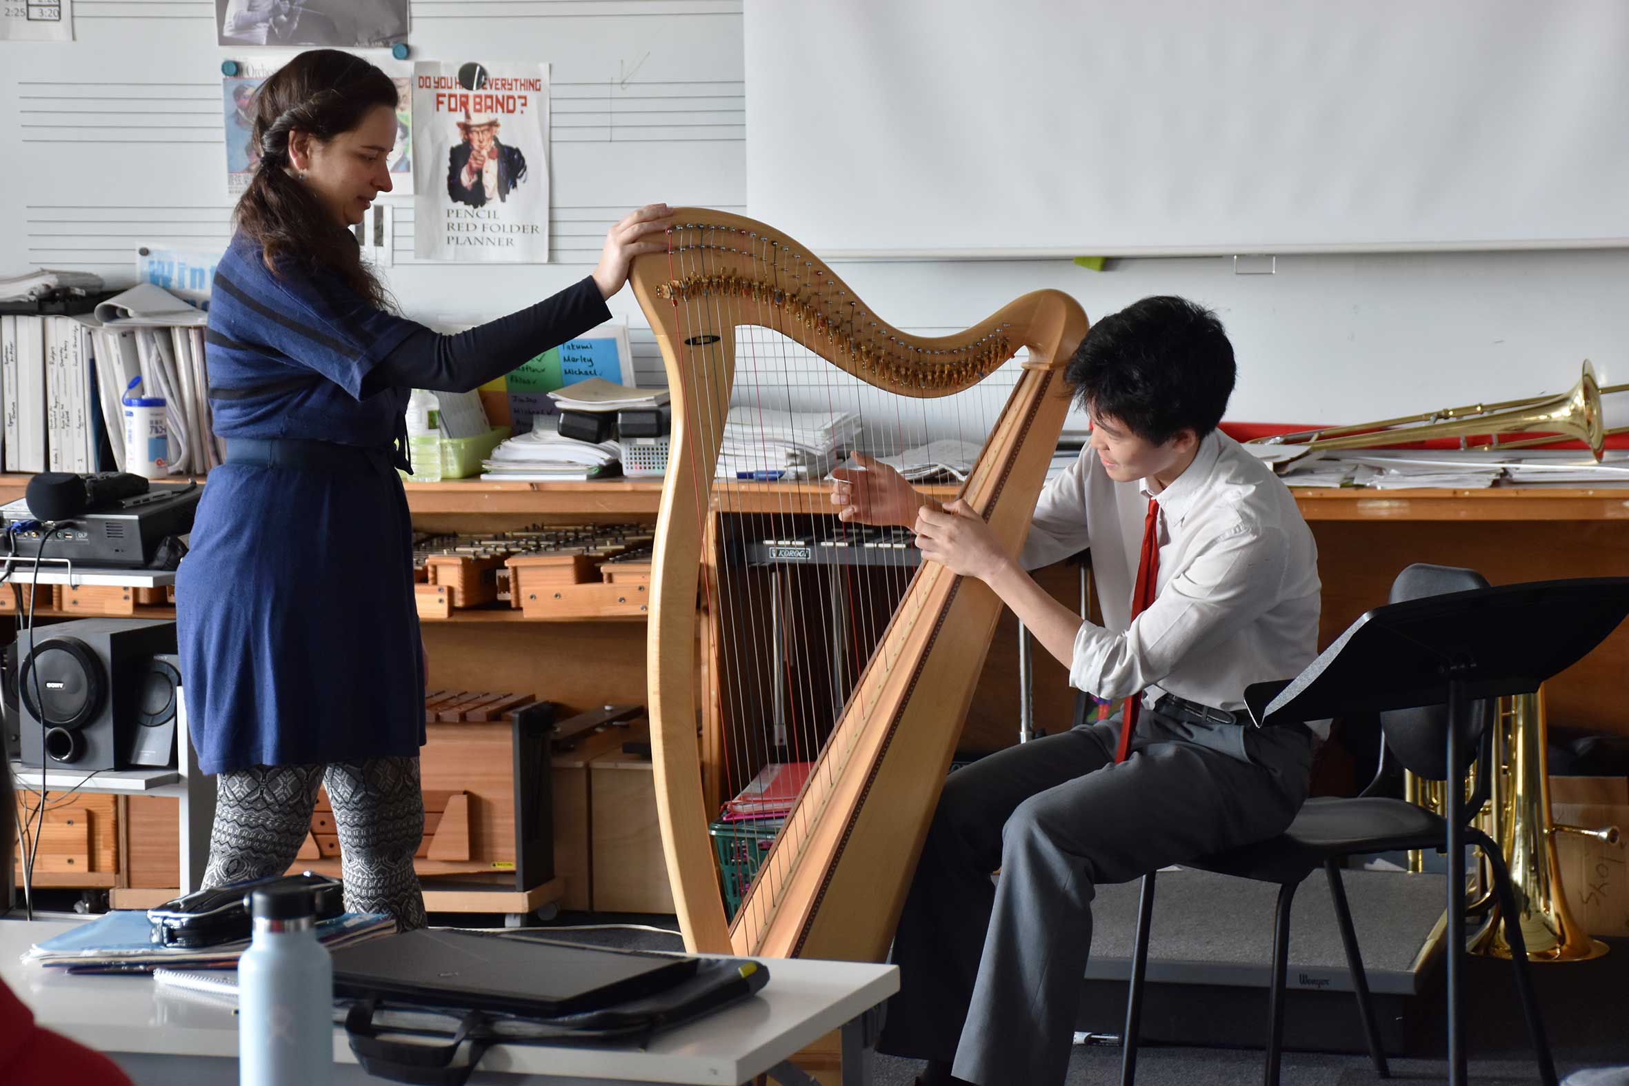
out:
{"label": "black music stand with tilted desk beside the seated young man", "polygon": [[1629,615],[1629,576],[1427,596],[1365,612],[1290,682],[1245,692],[1258,726],[1448,705],[1448,1081],[1466,1078],[1463,720],[1478,698],[1533,694]]}

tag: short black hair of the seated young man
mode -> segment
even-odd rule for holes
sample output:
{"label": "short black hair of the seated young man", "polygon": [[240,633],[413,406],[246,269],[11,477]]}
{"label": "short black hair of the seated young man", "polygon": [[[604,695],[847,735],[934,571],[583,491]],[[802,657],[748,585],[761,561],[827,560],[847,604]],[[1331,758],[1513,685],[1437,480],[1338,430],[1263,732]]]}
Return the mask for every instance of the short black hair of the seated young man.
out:
{"label": "short black hair of the seated young man", "polygon": [[1093,324],[1064,370],[1082,407],[1153,444],[1215,430],[1233,376],[1233,344],[1217,314],[1173,296],[1144,298]]}

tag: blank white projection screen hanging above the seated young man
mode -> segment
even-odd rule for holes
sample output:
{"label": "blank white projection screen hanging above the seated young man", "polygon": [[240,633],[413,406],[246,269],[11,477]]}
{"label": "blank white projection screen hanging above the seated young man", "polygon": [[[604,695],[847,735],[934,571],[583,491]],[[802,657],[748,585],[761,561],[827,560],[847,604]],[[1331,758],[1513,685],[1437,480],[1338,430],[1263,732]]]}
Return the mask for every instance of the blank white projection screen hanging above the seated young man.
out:
{"label": "blank white projection screen hanging above the seated young man", "polygon": [[1629,243],[1621,0],[753,0],[748,213],[816,252]]}

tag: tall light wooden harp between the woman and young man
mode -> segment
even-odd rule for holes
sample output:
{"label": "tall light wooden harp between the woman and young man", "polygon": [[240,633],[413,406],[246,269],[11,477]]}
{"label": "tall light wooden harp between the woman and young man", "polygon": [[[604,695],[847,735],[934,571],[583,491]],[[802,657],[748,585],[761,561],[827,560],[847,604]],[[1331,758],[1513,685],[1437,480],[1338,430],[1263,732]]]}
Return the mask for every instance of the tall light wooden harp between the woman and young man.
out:
{"label": "tall light wooden harp between the woman and young man", "polygon": [[[959,493],[1016,550],[1069,409],[1062,370],[1087,332],[1087,316],[1070,296],[1041,290],[964,332],[907,335],[873,316],[808,249],[764,223],[704,208],[676,208],[673,221],[670,251],[635,259],[632,283],[661,348],[673,412],[647,681],[661,839],[684,943],[700,952],[881,961],[1002,604],[981,581],[932,562],[899,576],[898,604],[878,624],[854,679],[824,720],[805,723],[814,742],[803,757],[813,769],[738,910],[727,915],[709,837],[727,790],[704,788],[702,752],[728,752],[740,734],[731,742],[699,736],[700,716],[717,726],[717,702],[730,682],[705,624],[699,637],[697,604],[722,612],[736,588],[727,583],[728,563],[712,557],[709,516],[762,508],[766,490],[800,523],[832,511],[824,471],[811,471],[798,485],[740,482],[733,474],[715,480],[730,407],[751,417],[754,397],[761,404],[775,381],[801,383],[805,394],[813,384],[816,399],[880,389],[920,402],[973,389],[1000,370],[1010,394],[999,414],[1000,401],[990,401],[979,430],[987,438]],[[772,355],[767,363],[761,342]],[[808,370],[775,365],[787,361],[788,347],[818,355],[836,384],[821,392]],[[1020,348],[1028,348],[1028,360],[1003,368]],[[738,435],[733,441],[740,444]],[[788,615],[785,628],[762,630],[761,617],[756,637],[782,637],[797,622]],[[743,731],[741,720],[727,726]],[[736,749],[735,760],[743,762],[736,777],[748,778],[772,757],[762,746],[756,754]]]}

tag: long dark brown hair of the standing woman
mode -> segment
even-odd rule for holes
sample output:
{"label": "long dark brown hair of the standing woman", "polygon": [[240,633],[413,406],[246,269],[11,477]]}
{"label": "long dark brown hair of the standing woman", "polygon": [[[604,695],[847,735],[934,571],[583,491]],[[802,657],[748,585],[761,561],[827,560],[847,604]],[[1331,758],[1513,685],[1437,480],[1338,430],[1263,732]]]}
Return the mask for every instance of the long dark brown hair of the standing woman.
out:
{"label": "long dark brown hair of the standing woman", "polygon": [[375,306],[386,304],[355,238],[290,173],[288,140],[300,130],[326,143],[357,129],[371,109],[396,104],[396,83],[388,75],[337,49],[303,52],[261,83],[249,135],[261,148],[261,163],[233,218],[261,246],[272,274],[279,274],[279,261],[292,259],[311,270],[327,269]]}

